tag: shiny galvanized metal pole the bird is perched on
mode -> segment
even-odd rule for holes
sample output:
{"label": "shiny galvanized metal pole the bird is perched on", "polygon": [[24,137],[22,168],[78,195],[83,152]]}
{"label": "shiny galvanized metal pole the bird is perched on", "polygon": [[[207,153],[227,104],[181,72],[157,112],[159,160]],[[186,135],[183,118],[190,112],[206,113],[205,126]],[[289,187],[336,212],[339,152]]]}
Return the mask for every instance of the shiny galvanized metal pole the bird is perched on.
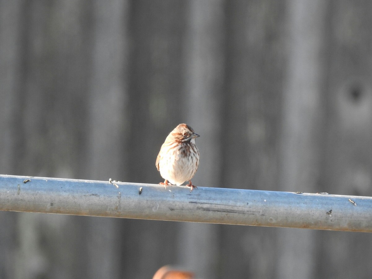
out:
{"label": "shiny galvanized metal pole the bird is perched on", "polygon": [[0,175],[0,210],[372,232],[372,198]]}

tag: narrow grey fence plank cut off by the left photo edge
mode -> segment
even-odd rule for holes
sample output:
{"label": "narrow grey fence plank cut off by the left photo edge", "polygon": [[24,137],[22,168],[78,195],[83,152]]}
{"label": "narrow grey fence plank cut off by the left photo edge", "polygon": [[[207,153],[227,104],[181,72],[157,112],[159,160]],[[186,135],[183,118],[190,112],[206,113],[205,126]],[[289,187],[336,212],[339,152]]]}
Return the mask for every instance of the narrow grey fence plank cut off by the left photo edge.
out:
{"label": "narrow grey fence plank cut off by the left photo edge", "polygon": [[[0,172],[15,174],[17,123],[19,107],[18,86],[22,51],[19,45],[22,29],[20,1],[0,1]],[[0,278],[15,278],[17,248],[17,212],[0,212]]]}

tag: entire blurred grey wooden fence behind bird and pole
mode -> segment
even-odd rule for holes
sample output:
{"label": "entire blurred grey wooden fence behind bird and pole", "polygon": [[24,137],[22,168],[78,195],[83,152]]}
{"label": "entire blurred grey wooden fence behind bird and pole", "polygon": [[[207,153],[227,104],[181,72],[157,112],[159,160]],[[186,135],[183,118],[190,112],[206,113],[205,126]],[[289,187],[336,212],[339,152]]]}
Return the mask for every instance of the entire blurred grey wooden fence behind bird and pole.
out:
{"label": "entire blurred grey wooden fence behind bird and pole", "polygon": [[[372,196],[372,2],[0,1],[0,173]],[[0,212],[0,278],[366,278],[368,234]]]}

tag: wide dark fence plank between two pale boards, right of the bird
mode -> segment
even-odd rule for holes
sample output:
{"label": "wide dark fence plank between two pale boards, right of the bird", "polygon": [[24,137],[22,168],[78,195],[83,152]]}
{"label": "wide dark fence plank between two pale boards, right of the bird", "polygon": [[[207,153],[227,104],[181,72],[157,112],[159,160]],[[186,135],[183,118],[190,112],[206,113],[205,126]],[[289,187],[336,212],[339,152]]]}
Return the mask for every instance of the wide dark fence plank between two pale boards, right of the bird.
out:
{"label": "wide dark fence plank between two pale boards, right of the bird", "polygon": [[[277,1],[226,3],[222,187],[278,190],[284,8]],[[220,278],[275,277],[276,233],[221,226]]]}

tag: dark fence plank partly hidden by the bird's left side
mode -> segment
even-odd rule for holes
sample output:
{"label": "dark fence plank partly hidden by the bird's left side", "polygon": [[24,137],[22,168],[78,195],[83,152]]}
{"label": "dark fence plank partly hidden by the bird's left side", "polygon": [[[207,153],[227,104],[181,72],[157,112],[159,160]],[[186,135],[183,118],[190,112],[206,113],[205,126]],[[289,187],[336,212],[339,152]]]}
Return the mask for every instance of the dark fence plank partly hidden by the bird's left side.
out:
{"label": "dark fence plank partly hidden by the bird's left side", "polygon": [[[121,154],[125,181],[159,183],[155,160],[165,138],[185,121],[182,100],[182,42],[185,1],[129,1],[128,126]],[[185,189],[186,190],[186,189]],[[121,272],[126,278],[148,278],[176,263],[179,223],[122,220]]]}

